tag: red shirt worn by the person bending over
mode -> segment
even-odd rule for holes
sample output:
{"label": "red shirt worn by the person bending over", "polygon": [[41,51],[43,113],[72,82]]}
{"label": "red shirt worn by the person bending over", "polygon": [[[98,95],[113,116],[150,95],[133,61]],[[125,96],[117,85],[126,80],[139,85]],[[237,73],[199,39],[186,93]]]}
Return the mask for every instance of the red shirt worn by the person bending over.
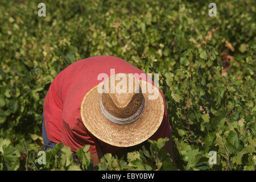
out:
{"label": "red shirt worn by the person bending over", "polygon": [[[89,152],[94,153],[100,146],[102,152],[117,152],[121,147],[115,147],[94,137],[83,125],[80,106],[85,94],[98,85],[100,73],[110,76],[110,69],[117,73],[144,73],[114,56],[95,56],[76,61],[61,71],[49,86],[44,100],[44,119],[47,137],[55,143],[62,142],[71,147],[72,151],[90,144]],[[154,84],[154,82],[153,82]],[[163,100],[164,96],[162,94]],[[164,101],[164,118],[154,135],[150,139],[168,137],[171,126],[168,120],[166,102]]]}

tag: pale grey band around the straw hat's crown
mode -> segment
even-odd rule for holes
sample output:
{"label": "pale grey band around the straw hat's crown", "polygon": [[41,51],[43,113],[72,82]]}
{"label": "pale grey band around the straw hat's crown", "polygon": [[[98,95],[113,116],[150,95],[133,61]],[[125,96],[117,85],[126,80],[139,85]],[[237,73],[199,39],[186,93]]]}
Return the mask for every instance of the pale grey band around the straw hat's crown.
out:
{"label": "pale grey band around the straw hat's crown", "polygon": [[144,98],[143,98],[143,101],[142,101],[142,104],[141,106],[139,106],[139,109],[137,110],[136,113],[134,113],[133,115],[131,115],[130,117],[128,118],[118,118],[118,117],[115,117],[114,115],[110,114],[104,107],[104,105],[102,104],[102,100],[101,100],[101,111],[102,113],[105,115],[106,118],[108,118],[110,121],[114,122],[114,123],[117,123],[117,124],[129,124],[129,123],[132,123],[134,121],[136,121],[142,114],[142,111],[144,109]]}

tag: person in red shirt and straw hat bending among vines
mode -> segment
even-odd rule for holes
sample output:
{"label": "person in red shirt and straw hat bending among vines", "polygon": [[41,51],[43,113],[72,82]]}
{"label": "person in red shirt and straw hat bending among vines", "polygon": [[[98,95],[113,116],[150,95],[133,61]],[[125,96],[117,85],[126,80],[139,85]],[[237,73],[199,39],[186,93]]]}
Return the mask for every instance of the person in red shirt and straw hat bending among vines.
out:
{"label": "person in red shirt and straw hat bending among vines", "polygon": [[118,57],[89,57],[61,71],[44,100],[42,125],[46,150],[60,142],[74,152],[89,144],[94,165],[105,153],[166,137],[174,161],[163,93]]}

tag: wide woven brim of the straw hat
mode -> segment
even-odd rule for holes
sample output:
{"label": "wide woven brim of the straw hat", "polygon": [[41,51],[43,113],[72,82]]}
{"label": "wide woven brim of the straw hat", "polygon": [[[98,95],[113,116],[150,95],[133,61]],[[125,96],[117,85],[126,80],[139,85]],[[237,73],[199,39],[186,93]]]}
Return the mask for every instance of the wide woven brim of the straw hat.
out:
{"label": "wide woven brim of the straw hat", "polygon": [[[146,81],[139,80],[139,82],[142,86],[142,82]],[[110,121],[102,113],[101,94],[98,93],[97,86],[86,93],[81,103],[82,122],[95,137],[113,146],[130,147],[144,142],[158,130],[163,120],[164,102],[158,88],[154,85],[150,84],[151,88],[158,92],[158,98],[150,100],[148,96],[152,94],[143,93],[145,104],[141,116],[133,123],[125,125]]]}

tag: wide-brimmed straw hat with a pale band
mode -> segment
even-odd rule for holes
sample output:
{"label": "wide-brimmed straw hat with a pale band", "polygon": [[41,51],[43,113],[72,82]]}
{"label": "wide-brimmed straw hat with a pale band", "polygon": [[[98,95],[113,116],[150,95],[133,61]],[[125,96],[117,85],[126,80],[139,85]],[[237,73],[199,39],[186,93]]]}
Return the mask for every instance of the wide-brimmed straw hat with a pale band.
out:
{"label": "wide-brimmed straw hat with a pale band", "polygon": [[[157,97],[150,98],[155,93]],[[118,147],[134,146],[150,138],[163,115],[164,102],[158,88],[127,73],[106,78],[90,89],[81,103],[86,129]]]}

